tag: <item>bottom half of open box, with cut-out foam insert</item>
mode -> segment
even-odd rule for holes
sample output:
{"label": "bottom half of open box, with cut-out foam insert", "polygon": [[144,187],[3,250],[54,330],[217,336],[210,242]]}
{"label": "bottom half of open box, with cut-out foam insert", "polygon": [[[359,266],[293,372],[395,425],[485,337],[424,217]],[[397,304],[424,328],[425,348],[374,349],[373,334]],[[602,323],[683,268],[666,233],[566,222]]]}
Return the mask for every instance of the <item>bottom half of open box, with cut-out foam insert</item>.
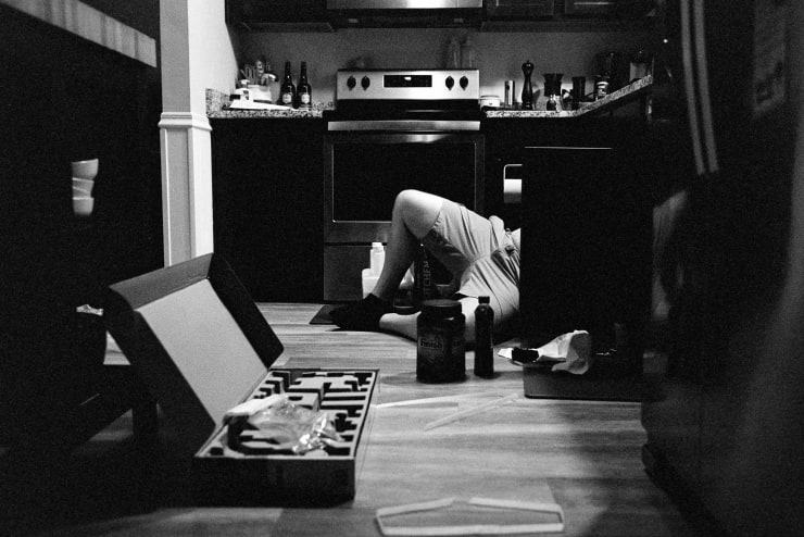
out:
{"label": "bottom half of open box, with cut-out foam insert", "polygon": [[249,399],[286,394],[296,404],[329,412],[342,441],[296,455],[279,451],[260,430],[229,422],[193,458],[194,496],[216,504],[257,499],[327,504],[354,498],[357,451],[376,380],[376,370],[269,371]]}

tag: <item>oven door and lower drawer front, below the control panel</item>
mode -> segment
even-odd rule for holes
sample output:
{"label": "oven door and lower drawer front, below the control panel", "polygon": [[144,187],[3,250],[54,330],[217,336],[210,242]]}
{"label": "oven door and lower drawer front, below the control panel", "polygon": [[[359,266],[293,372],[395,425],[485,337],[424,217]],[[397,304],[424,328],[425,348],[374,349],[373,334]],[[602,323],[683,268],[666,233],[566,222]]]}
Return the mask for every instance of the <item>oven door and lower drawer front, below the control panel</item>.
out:
{"label": "oven door and lower drawer front, below the control panel", "polygon": [[370,243],[388,242],[397,195],[417,189],[483,211],[478,132],[330,132],[324,142],[324,299],[362,296]]}

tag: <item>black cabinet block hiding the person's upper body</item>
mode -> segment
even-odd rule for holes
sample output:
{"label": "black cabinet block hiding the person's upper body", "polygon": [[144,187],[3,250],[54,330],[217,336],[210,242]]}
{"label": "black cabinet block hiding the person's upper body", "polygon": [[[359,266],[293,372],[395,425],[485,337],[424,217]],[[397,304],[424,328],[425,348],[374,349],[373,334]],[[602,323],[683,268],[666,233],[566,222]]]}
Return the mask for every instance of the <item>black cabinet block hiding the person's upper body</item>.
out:
{"label": "black cabinet block hiding the person's upper body", "polygon": [[[522,129],[512,129],[519,132]],[[639,118],[544,123],[522,146],[522,337],[586,329],[641,375],[651,300],[651,187]],[[619,340],[618,340],[619,337]]]}

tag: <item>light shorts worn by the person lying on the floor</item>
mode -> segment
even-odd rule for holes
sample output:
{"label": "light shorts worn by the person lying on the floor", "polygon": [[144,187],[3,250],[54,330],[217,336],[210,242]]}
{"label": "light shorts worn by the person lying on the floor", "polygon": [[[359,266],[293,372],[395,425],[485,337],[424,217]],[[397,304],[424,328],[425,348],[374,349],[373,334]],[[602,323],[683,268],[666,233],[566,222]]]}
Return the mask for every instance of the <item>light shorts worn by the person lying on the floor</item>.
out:
{"label": "light shorts worn by the person lying on the floor", "polygon": [[456,295],[491,299],[495,330],[518,316],[519,250],[502,220],[444,200],[422,242],[455,276]]}

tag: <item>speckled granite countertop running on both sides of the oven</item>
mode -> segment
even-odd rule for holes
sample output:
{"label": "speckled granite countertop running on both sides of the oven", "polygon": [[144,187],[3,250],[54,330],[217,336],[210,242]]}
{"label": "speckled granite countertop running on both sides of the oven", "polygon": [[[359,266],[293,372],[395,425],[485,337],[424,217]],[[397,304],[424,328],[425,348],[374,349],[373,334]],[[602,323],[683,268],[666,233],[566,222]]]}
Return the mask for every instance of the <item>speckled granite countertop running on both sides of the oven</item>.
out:
{"label": "speckled granite countertop running on both sides of the oven", "polygon": [[[604,109],[612,108],[616,101],[626,99],[628,97],[635,97],[640,91],[653,84],[653,77],[651,75],[640,78],[628,86],[624,86],[620,89],[613,91],[603,99],[594,102],[583,103],[578,110],[565,110],[561,112],[553,112],[547,110],[485,110],[486,117],[488,118],[561,118],[561,117],[578,117],[593,112],[600,112]],[[312,110],[229,110],[229,96],[223,91],[214,89],[206,90],[206,116],[209,118],[229,118],[229,120],[242,120],[242,118],[321,118],[325,110],[335,109],[335,104],[331,102],[316,102],[313,104]]]}

